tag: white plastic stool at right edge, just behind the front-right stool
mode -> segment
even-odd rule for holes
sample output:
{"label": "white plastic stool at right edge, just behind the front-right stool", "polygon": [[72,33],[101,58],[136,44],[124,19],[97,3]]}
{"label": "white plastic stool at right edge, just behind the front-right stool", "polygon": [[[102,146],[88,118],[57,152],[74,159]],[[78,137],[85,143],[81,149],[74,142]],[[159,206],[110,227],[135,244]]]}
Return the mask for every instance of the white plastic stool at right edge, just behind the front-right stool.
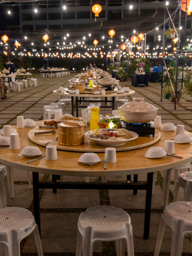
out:
{"label": "white plastic stool at right edge, just behind the front-right stool", "polygon": [[185,172],[178,176],[174,202],[178,201],[180,187],[184,188],[183,201],[192,202],[192,172]]}

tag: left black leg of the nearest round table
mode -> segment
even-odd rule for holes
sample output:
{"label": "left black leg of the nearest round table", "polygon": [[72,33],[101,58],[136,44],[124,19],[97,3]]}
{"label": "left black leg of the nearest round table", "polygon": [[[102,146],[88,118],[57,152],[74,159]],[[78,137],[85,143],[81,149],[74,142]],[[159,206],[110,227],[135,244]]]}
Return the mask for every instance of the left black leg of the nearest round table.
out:
{"label": "left black leg of the nearest round table", "polygon": [[33,172],[33,208],[35,222],[39,229],[39,235],[41,234],[40,229],[40,198],[39,198],[39,173]]}

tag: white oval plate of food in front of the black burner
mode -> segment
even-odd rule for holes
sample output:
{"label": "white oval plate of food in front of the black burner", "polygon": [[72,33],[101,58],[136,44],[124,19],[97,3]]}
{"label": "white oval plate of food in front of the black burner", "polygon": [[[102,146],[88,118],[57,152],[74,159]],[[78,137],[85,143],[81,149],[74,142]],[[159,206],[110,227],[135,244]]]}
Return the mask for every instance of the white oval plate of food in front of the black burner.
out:
{"label": "white oval plate of food in front of the black burner", "polygon": [[137,133],[126,129],[96,129],[86,132],[84,136],[103,146],[120,146],[139,137]]}

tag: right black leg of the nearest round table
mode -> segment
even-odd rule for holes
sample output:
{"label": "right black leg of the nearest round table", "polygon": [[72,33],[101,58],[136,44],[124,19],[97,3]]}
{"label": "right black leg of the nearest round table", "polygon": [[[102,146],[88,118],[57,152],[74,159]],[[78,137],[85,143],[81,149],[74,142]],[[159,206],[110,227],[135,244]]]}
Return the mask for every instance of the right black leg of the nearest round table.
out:
{"label": "right black leg of the nearest round table", "polygon": [[145,217],[144,217],[144,232],[143,238],[150,238],[150,219],[152,207],[152,188],[153,188],[153,173],[147,173],[147,188],[145,197]]}

